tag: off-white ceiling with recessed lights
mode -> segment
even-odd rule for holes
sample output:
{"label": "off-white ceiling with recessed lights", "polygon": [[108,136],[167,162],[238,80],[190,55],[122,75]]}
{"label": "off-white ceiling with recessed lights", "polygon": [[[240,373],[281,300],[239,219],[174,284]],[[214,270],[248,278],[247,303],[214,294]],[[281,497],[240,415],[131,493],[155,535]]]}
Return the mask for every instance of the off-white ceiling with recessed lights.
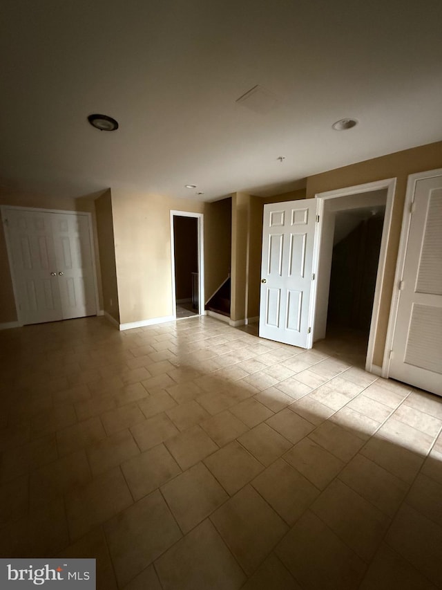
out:
{"label": "off-white ceiling with recessed lights", "polygon": [[[440,0],[3,0],[1,187],[212,201],[440,140],[441,22]],[[236,103],[256,84],[275,109]]]}

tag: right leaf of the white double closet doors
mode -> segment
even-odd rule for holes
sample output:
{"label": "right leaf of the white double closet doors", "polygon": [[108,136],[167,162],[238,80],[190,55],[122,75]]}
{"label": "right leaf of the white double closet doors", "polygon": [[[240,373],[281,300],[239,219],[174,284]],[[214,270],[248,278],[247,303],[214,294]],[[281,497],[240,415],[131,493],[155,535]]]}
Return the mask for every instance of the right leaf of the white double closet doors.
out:
{"label": "right leaf of the white double closet doors", "polygon": [[50,215],[63,319],[95,315],[97,306],[88,215]]}

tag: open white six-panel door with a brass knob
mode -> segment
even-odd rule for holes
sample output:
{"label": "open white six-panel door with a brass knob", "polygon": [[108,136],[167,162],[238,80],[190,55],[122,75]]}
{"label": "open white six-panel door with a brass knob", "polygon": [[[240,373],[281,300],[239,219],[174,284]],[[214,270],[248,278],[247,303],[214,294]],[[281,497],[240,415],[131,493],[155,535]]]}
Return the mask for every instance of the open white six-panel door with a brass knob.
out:
{"label": "open white six-panel door with a brass knob", "polygon": [[311,347],[316,199],[264,206],[260,337]]}

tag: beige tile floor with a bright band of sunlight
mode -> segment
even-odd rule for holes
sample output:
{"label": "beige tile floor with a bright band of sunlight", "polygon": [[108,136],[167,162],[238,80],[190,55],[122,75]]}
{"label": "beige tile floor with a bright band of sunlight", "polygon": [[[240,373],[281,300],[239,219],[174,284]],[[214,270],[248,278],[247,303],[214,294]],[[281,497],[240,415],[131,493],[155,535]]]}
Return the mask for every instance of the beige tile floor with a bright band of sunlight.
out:
{"label": "beige tile floor with a bright band of sunlight", "polygon": [[90,317],[0,350],[2,557],[96,557],[102,590],[442,588],[442,399],[349,339]]}

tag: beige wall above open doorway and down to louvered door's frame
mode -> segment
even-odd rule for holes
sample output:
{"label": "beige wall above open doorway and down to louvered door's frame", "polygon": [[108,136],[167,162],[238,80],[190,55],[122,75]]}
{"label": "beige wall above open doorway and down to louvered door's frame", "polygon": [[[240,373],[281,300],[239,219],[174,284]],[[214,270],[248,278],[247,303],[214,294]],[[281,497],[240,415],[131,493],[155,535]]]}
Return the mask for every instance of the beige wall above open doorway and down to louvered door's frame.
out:
{"label": "beige wall above open doorway and down to louvered door's frame", "polygon": [[381,366],[390,315],[394,273],[403,216],[407,176],[442,167],[442,142],[414,147],[395,154],[365,160],[307,178],[307,199],[319,192],[370,183],[385,178],[397,178],[392,212],[392,227],[387,248],[385,277],[381,293],[380,314],[374,344],[374,365]]}

